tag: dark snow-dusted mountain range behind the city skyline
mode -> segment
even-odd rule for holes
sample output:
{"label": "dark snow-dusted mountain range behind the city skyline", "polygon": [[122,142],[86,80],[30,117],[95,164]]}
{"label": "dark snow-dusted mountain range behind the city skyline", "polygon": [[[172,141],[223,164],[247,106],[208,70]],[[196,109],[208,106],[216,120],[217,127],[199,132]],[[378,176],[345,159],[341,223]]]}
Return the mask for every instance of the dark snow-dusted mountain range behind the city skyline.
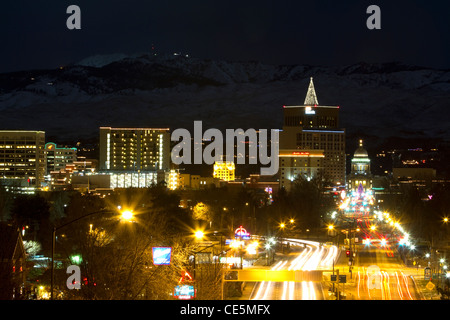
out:
{"label": "dark snow-dusted mountain range behind the city skyline", "polygon": [[114,54],[55,70],[0,74],[0,128],[62,140],[100,126],[281,128],[282,106],[303,104],[309,78],[321,105],[339,105],[349,135],[435,137],[450,132],[450,70],[400,63],[342,67]]}

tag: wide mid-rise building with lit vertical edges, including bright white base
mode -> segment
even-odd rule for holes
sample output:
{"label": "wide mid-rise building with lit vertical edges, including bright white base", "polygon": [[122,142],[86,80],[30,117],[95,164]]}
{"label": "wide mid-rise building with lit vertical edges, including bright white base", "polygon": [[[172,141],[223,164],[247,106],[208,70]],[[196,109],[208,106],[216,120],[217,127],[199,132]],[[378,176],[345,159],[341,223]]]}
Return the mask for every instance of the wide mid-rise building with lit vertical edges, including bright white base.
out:
{"label": "wide mid-rise building with lit vertical edges, including bright white base", "polygon": [[99,171],[110,176],[112,189],[167,180],[170,152],[169,128],[100,127]]}

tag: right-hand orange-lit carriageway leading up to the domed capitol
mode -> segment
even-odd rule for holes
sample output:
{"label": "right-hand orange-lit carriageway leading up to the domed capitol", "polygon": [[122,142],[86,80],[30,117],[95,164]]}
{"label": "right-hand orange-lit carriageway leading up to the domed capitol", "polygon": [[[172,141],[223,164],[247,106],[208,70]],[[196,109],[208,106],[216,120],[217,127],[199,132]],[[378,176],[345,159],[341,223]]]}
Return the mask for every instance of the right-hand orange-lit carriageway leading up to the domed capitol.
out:
{"label": "right-hand orange-lit carriageway leading up to the domed capitol", "polygon": [[[403,229],[386,217],[375,219],[372,193],[353,193],[343,201],[347,221],[354,221],[352,232],[364,244],[353,244],[356,251],[352,276],[355,299],[358,300],[415,300],[419,298],[414,279],[408,274],[396,248]],[[383,221],[385,220],[385,221]],[[394,232],[395,226],[396,230]],[[400,231],[399,231],[400,230]],[[394,235],[395,233],[395,235]]]}

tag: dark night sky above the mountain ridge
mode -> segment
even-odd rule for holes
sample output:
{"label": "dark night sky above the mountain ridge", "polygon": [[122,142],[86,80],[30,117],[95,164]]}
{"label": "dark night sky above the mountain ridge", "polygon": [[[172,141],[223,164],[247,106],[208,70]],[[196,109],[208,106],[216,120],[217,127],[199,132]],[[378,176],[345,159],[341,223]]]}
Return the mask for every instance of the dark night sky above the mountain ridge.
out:
{"label": "dark night sky above the mountain ridge", "polygon": [[[81,30],[66,9],[81,8]],[[366,9],[381,8],[381,30]],[[450,68],[450,2],[357,0],[15,0],[0,12],[0,72],[95,54],[182,52],[272,64],[400,61]]]}

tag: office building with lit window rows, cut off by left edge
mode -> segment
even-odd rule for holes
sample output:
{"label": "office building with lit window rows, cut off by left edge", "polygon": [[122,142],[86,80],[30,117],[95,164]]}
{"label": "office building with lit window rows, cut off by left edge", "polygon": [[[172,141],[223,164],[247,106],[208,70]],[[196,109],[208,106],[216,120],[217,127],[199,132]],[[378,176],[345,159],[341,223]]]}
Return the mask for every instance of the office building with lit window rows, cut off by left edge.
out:
{"label": "office building with lit window rows, cut off by left edge", "polygon": [[45,169],[44,131],[0,130],[0,179],[4,184],[39,188]]}

